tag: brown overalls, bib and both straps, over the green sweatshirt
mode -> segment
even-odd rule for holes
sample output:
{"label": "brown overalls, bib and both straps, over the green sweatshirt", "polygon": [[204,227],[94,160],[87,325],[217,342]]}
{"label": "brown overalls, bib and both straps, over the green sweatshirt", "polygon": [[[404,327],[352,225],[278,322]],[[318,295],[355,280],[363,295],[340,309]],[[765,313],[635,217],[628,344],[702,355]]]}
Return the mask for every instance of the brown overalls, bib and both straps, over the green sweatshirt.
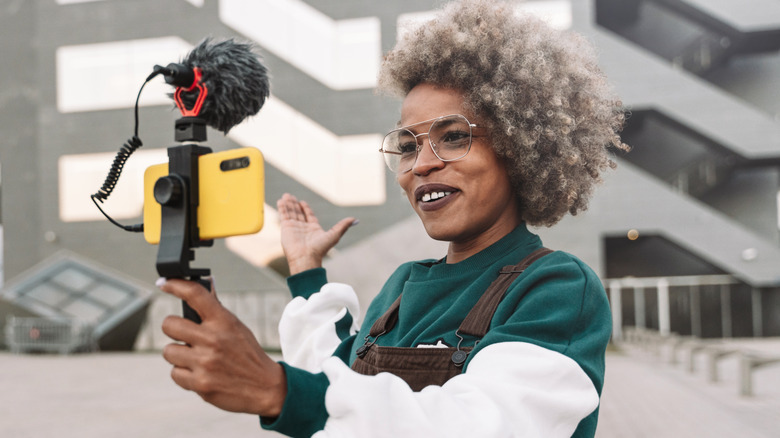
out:
{"label": "brown overalls, bib and both straps, over the green sweatshirt", "polygon": [[[456,347],[416,348],[375,345],[377,338],[392,330],[398,322],[398,309],[401,305],[401,295],[399,295],[387,312],[371,326],[365,343],[356,351],[357,359],[352,364],[352,369],[365,375],[376,375],[381,372],[395,374],[406,381],[413,391],[420,391],[428,385],[443,385],[444,382],[461,373],[463,363],[473,348],[461,348],[462,335],[476,337],[477,341],[474,343],[476,345],[490,328],[493,314],[509,285],[531,263],[551,252],[550,249],[540,248],[517,265],[503,267],[498,277],[482,294],[455,331],[455,336],[459,339]],[[369,341],[370,338],[373,338],[373,341]]]}

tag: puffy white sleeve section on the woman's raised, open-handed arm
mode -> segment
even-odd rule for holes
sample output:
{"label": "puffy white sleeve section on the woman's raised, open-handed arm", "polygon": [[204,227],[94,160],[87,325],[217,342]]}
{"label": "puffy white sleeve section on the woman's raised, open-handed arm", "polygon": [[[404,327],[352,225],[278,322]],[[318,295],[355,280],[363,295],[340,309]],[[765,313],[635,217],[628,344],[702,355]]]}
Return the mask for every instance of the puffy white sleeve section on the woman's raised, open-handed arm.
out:
{"label": "puffy white sleeve section on the woman's raised, open-handed arm", "polygon": [[341,343],[336,323],[347,312],[353,317],[350,334],[357,333],[360,304],[355,291],[346,284],[328,283],[308,299],[294,298],[279,321],[283,360],[312,373],[322,371],[322,362]]}

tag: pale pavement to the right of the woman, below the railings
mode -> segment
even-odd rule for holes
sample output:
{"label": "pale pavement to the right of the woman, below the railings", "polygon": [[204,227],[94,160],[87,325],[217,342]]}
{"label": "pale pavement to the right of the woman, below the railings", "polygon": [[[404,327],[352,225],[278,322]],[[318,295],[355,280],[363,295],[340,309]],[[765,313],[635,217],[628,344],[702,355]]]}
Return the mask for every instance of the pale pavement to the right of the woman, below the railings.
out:
{"label": "pale pavement to the right of the woman, below the railings", "polygon": [[[780,354],[776,340],[762,345]],[[742,396],[739,357],[718,362],[717,382],[705,359],[694,356],[690,371],[687,358],[674,364],[668,354],[629,345],[609,352],[596,436],[780,437],[780,363],[756,369],[753,395]]]}

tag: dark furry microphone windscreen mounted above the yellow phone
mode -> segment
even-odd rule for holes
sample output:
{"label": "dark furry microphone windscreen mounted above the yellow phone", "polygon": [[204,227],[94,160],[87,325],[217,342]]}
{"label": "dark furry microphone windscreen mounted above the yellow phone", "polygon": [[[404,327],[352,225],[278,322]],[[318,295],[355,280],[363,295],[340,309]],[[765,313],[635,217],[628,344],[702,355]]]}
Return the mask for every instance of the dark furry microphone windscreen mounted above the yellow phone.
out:
{"label": "dark furry microphone windscreen mounted above the yellow phone", "polygon": [[[270,94],[268,69],[249,43],[233,39],[204,39],[182,60],[188,68],[199,67],[201,84],[208,89],[198,117],[208,126],[227,134],[230,129],[260,111]],[[181,100],[192,107],[197,91],[182,91]]]}

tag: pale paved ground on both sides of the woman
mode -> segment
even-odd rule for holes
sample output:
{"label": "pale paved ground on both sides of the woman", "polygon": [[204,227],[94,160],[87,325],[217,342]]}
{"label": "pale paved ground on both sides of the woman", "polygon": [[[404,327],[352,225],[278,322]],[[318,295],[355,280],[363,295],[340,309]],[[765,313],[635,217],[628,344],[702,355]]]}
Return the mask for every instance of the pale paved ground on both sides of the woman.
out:
{"label": "pale paved ground on both sides of the woman", "polygon": [[[780,351],[777,339],[760,345]],[[657,349],[611,348],[596,436],[780,436],[780,363],[757,369],[754,395],[745,397],[736,361],[720,361],[713,383],[702,363],[690,372]],[[169,371],[156,352],[0,352],[0,437],[280,436],[263,431],[255,416],[221,411],[182,390]]]}

